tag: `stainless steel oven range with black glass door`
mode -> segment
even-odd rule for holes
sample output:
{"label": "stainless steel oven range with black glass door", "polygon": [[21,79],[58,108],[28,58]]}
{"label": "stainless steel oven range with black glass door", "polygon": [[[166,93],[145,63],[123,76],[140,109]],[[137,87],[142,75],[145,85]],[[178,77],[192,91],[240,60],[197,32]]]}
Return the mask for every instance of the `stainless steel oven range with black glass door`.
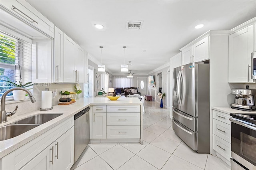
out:
{"label": "stainless steel oven range with black glass door", "polygon": [[256,113],[231,113],[231,169],[256,169]]}

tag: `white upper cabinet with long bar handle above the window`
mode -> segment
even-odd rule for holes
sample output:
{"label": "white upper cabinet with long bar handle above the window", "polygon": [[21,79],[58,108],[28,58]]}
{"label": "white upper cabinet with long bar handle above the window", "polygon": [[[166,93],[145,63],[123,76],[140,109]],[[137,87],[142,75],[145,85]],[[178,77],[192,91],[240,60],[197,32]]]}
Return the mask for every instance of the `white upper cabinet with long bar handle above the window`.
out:
{"label": "white upper cabinet with long bar handle above the window", "polygon": [[2,0],[0,6],[2,10],[12,13],[16,18],[44,32],[49,37],[54,37],[54,24],[25,0]]}

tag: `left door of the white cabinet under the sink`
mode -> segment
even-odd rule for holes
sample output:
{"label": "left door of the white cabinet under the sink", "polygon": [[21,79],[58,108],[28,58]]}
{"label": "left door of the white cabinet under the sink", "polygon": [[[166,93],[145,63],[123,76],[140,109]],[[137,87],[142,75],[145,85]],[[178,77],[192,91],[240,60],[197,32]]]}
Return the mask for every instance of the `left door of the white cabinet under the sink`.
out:
{"label": "left door of the white cabinet under the sink", "polygon": [[21,170],[52,170],[54,161],[54,143],[50,144],[40,154],[30,160]]}

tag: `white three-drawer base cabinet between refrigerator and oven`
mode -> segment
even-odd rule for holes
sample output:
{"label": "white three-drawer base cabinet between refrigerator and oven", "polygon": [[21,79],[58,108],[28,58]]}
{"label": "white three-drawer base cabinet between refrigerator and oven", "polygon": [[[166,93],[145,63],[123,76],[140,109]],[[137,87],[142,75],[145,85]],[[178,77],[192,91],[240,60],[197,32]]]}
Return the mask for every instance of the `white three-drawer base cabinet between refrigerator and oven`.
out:
{"label": "white three-drawer base cabinet between refrigerator and oven", "polygon": [[230,165],[231,158],[231,125],[230,115],[213,110],[212,131],[213,149],[224,162]]}

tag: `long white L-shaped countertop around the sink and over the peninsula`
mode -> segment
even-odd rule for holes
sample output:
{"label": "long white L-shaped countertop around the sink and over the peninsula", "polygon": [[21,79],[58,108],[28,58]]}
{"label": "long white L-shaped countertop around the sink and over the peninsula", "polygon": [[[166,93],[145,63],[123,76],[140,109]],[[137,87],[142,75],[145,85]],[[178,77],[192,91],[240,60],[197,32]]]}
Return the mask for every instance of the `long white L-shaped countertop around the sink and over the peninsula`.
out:
{"label": "long white L-shaped countertop around the sink and over the peninsula", "polygon": [[6,156],[7,154],[11,153],[17,148],[23,146],[24,144],[28,143],[34,138],[40,136],[44,132],[62,123],[66,119],[74,116],[76,113],[78,113],[79,111],[82,111],[83,109],[85,109],[90,105],[142,105],[142,102],[140,101],[140,99],[136,97],[120,97],[117,101],[110,101],[110,99],[106,97],[101,97],[101,98],[89,97],[89,98],[81,98],[79,100],[76,100],[75,103],[72,103],[70,105],[55,105],[53,106],[53,109],[49,111],[38,110],[38,111],[33,111],[30,113],[18,115],[16,117],[8,117],[7,118],[8,122],[0,124],[0,127],[14,123],[16,121],[19,121],[26,117],[30,117],[32,115],[37,115],[39,113],[63,113],[63,115],[56,117],[55,119],[52,119],[51,121],[48,121],[23,134],[20,134],[19,136],[10,138],[8,140],[0,141],[0,158]]}

